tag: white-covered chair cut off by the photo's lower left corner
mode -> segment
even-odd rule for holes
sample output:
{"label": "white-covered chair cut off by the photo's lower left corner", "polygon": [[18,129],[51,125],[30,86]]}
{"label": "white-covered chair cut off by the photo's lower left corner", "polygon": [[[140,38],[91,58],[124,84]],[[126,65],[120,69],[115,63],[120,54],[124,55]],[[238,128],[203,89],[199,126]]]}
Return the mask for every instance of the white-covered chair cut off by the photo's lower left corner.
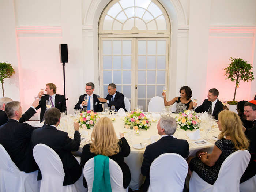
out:
{"label": "white-covered chair cut off by the photo's lower left corner", "polygon": [[31,173],[20,171],[1,144],[0,156],[0,192],[40,191],[38,170]]}

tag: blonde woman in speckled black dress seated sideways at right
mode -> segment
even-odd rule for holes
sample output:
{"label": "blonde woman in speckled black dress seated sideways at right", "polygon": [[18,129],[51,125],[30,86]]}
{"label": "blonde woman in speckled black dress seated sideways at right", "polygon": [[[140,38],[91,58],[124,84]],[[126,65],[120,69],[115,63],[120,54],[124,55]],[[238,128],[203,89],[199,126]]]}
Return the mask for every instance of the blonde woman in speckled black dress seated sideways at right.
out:
{"label": "blonde woman in speckled black dress seated sideways at right", "polygon": [[234,151],[245,150],[249,146],[248,139],[242,130],[240,117],[231,111],[221,111],[218,115],[218,127],[222,131],[215,142],[211,154],[199,153],[197,157],[187,159],[189,173],[195,171],[204,181],[213,185],[223,161]]}

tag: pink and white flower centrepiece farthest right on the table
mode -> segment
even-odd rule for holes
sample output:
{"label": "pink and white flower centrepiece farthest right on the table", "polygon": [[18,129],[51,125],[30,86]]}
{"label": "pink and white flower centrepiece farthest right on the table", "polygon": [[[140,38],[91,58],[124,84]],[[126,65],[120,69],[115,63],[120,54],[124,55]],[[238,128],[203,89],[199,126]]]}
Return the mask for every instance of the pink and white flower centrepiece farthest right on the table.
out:
{"label": "pink and white flower centrepiece farthest right on the table", "polygon": [[184,113],[179,113],[175,117],[175,120],[177,122],[177,128],[184,130],[190,129],[191,131],[198,128],[199,118],[193,111],[186,110]]}

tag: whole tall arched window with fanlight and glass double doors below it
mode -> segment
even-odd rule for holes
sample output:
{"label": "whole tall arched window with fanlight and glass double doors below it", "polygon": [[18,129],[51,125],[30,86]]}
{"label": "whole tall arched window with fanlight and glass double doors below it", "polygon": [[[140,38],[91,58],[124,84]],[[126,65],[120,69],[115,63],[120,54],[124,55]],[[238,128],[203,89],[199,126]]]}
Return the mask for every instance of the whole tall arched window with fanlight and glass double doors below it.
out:
{"label": "whole tall arched window with fanlight and glass double doors below it", "polygon": [[131,109],[168,87],[170,21],[156,0],[113,0],[99,22],[101,88],[117,85]]}

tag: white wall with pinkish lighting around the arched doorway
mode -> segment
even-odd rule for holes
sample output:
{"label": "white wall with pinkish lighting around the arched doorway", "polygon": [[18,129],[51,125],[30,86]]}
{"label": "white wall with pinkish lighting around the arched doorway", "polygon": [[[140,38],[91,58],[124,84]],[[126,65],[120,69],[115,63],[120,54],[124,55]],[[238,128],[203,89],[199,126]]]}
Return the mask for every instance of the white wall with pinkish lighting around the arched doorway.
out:
{"label": "white wall with pinkish lighting around the arched doorway", "polygon": [[[6,96],[27,109],[42,84],[53,82],[64,94],[59,44],[68,44],[67,106],[72,112],[86,82],[98,84],[98,20],[109,0],[0,1],[1,62],[11,63],[15,75],[5,82]],[[232,98],[234,86],[225,80],[228,58],[255,59],[255,0],[159,0],[169,14],[169,97],[187,84],[200,100],[216,87],[220,97]],[[8,15],[8,16],[7,16]],[[236,26],[236,28],[232,28]],[[16,33],[17,32],[17,38]],[[19,80],[20,79],[20,80]],[[256,83],[241,83],[237,100],[251,99]],[[14,91],[15,90],[15,91]],[[1,91],[0,91],[1,94]],[[34,118],[38,118],[34,116]]]}

